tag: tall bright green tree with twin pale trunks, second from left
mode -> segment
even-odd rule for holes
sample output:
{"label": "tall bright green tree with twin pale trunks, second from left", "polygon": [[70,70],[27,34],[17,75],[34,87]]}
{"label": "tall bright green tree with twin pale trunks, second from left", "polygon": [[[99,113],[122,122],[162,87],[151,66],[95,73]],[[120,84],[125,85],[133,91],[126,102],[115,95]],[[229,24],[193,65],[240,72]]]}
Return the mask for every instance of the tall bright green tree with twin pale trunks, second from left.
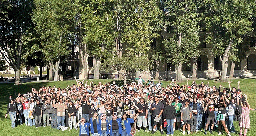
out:
{"label": "tall bright green tree with twin pale trunks, second from left", "polygon": [[77,6],[74,1],[65,0],[35,0],[33,21],[37,25],[46,66],[49,68],[49,80],[52,80],[52,69],[55,72],[54,81],[58,80],[59,64],[63,56],[69,54],[67,44],[74,31]]}

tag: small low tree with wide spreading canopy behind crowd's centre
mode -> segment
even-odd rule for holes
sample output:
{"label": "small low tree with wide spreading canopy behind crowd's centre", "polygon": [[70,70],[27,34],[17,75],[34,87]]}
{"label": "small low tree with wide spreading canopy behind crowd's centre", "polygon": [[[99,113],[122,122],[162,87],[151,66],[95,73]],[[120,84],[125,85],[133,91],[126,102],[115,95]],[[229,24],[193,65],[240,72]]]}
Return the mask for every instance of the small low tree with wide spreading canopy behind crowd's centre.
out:
{"label": "small low tree with wide spreading canopy behind crowd's centre", "polygon": [[[101,68],[106,72],[114,72],[114,70],[117,70],[118,74],[122,75],[124,78],[124,84],[126,84],[126,75],[130,72],[151,68],[151,61],[145,61],[147,59],[147,56],[137,57],[134,54],[122,57],[114,56],[102,63]],[[119,72],[121,70],[124,72]]]}

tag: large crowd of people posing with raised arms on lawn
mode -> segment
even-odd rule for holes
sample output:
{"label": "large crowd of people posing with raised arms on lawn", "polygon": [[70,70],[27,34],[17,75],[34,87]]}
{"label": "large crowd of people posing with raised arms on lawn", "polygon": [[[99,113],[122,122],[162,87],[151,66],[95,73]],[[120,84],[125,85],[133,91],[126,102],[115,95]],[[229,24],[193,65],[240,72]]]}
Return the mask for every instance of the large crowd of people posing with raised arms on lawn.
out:
{"label": "large crowd of people posing with raised arms on lawn", "polygon": [[11,127],[79,127],[80,136],[131,136],[157,130],[164,134],[164,128],[167,136],[175,130],[183,135],[215,130],[230,136],[236,132],[234,120],[239,121],[239,136],[246,136],[250,129],[250,105],[240,81],[238,88],[231,88],[230,81],[229,88],[217,88],[209,82],[178,85],[172,80],[164,87],[160,80],[144,81],[141,76],[136,80],[126,85],[76,80],[66,88],[32,88],[15,100],[10,96],[5,117],[9,113]]}

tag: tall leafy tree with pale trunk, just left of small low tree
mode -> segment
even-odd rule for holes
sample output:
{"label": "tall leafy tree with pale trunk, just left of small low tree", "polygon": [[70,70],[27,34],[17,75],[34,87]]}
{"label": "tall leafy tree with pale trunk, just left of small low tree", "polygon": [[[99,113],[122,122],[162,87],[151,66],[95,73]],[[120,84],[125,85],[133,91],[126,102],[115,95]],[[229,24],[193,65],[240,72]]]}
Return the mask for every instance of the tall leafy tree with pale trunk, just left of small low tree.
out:
{"label": "tall leafy tree with pale trunk, just left of small low tree", "polygon": [[114,45],[114,20],[112,18],[113,1],[82,1],[81,20],[84,29],[84,44],[87,53],[93,56],[94,79],[100,77],[100,63],[110,58]]}

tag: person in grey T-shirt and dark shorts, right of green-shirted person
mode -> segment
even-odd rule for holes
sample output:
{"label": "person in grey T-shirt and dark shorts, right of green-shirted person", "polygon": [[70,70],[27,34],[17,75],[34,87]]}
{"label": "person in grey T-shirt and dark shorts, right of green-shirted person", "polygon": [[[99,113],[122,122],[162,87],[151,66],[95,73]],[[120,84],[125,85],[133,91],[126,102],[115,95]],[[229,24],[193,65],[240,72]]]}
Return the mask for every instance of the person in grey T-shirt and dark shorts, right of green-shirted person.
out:
{"label": "person in grey T-shirt and dark shorts, right of green-shirted person", "polygon": [[187,124],[188,135],[190,134],[190,124],[191,124],[191,116],[192,116],[192,108],[188,105],[189,100],[185,100],[185,105],[181,107],[181,123],[183,129],[183,135],[185,135],[185,128]]}

